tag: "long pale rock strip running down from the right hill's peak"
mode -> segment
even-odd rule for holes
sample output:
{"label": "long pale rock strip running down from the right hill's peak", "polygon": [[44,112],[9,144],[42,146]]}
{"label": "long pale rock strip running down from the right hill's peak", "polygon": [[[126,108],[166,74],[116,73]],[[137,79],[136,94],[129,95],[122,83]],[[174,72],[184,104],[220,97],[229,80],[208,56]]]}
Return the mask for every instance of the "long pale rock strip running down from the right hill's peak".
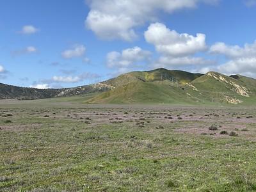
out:
{"label": "long pale rock strip running down from the right hill's peak", "polygon": [[239,84],[236,84],[234,81],[228,81],[227,79],[225,79],[225,77],[223,77],[219,74],[215,74],[214,72],[209,72],[207,74],[207,76],[213,77],[214,79],[217,79],[218,81],[222,81],[227,84],[230,84],[231,86],[234,87],[234,92],[238,93],[239,95],[242,95],[244,97],[250,97],[248,89],[245,88],[244,86],[240,86]]}

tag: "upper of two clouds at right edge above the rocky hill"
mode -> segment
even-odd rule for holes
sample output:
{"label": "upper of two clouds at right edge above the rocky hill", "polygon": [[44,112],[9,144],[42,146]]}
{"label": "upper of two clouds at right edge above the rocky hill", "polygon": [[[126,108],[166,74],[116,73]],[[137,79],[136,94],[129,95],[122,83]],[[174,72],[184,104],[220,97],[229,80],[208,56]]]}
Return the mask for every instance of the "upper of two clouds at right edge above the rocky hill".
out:
{"label": "upper of two clouds at right edge above the rocky hill", "polygon": [[211,46],[209,52],[212,54],[223,54],[228,58],[253,57],[256,56],[256,41],[253,44],[245,44],[244,47],[218,42]]}

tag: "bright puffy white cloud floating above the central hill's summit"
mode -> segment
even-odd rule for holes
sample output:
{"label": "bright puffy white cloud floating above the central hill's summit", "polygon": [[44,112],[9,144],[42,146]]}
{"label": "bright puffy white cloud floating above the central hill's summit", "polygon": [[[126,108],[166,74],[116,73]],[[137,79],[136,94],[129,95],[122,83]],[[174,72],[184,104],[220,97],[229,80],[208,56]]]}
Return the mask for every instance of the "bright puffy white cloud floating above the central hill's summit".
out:
{"label": "bright puffy white cloud floating above the central hill's summit", "polygon": [[188,56],[196,52],[205,51],[205,35],[198,33],[196,36],[187,33],[179,34],[171,31],[164,24],[150,24],[145,31],[145,39],[156,47],[156,51],[168,56]]}

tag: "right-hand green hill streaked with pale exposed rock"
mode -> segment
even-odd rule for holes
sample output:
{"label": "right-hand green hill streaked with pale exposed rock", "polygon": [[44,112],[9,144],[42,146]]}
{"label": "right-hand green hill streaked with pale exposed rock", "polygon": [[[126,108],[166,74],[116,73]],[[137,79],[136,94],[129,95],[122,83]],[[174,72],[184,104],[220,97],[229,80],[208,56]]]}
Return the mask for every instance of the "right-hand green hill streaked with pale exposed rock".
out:
{"label": "right-hand green hill streaked with pale exposed rock", "polygon": [[234,77],[228,77],[217,72],[208,72],[186,84],[186,88],[190,88],[189,94],[203,102],[239,104],[255,96],[253,84],[255,86],[256,82],[253,83],[254,80],[252,79],[251,84],[246,84]]}

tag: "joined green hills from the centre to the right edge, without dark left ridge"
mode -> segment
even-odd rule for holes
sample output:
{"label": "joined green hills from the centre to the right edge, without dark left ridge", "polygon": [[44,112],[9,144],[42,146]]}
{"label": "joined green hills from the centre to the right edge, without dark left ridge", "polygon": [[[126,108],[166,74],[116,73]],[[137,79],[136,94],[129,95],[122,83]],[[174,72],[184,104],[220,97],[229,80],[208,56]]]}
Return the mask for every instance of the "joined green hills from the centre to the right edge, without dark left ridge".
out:
{"label": "joined green hills from the centre to the right edge, without dark left ridge", "polygon": [[252,104],[256,80],[217,72],[205,75],[164,68],[131,72],[105,81],[115,88],[101,93],[88,103],[159,103],[159,104]]}

